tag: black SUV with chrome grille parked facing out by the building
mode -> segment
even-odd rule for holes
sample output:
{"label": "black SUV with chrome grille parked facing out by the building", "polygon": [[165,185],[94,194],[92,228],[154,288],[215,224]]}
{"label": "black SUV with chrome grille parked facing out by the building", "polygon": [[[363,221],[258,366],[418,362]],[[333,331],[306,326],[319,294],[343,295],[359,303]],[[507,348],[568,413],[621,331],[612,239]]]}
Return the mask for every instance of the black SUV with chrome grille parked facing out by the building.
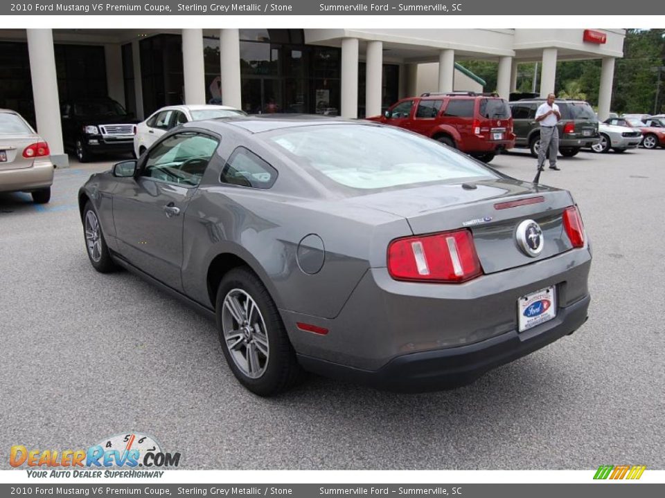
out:
{"label": "black SUV with chrome grille parked facing out by the building", "polygon": [[93,154],[133,153],[136,120],[111,98],[62,102],[64,147],[76,152],[81,163]]}

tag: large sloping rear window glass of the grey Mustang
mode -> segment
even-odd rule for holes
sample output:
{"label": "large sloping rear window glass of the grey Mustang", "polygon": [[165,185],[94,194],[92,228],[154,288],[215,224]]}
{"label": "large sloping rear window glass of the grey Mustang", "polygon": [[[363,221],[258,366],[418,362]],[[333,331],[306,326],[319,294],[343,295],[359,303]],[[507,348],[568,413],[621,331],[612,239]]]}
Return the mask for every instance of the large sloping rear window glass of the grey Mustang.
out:
{"label": "large sloping rear window glass of the grey Mustang", "polygon": [[269,136],[305,170],[354,189],[371,190],[458,178],[495,178],[443,145],[391,127],[363,124],[280,129]]}

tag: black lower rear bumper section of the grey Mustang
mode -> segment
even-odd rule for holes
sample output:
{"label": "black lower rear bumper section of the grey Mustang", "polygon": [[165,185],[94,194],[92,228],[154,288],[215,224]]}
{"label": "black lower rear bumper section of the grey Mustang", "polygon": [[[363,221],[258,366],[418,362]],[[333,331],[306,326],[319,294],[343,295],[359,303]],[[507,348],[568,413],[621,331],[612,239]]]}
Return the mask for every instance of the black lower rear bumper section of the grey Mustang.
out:
{"label": "black lower rear bumper section of the grey Mustang", "polygon": [[400,355],[377,370],[353,368],[311,356],[299,355],[298,358],[308,371],[380,389],[402,392],[451,389],[467,385],[490,369],[573,333],[587,320],[590,301],[591,297],[586,295],[574,304],[559,308],[553,320],[522,333],[512,330],[466,346]]}

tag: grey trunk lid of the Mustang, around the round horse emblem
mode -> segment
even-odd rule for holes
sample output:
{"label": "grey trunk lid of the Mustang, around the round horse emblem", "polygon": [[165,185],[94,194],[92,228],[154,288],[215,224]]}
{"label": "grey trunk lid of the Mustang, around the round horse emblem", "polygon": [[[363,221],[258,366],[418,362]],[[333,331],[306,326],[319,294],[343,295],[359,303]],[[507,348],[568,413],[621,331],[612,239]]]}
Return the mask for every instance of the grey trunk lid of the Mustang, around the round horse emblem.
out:
{"label": "grey trunk lid of the Mustang, around the round horse emblem", "polygon": [[[405,217],[415,235],[468,228],[486,274],[572,248],[562,221],[562,212],[573,204],[570,194],[509,178],[382,192],[353,202]],[[517,225],[527,219],[540,225],[544,237],[542,252],[535,257],[517,245]]]}

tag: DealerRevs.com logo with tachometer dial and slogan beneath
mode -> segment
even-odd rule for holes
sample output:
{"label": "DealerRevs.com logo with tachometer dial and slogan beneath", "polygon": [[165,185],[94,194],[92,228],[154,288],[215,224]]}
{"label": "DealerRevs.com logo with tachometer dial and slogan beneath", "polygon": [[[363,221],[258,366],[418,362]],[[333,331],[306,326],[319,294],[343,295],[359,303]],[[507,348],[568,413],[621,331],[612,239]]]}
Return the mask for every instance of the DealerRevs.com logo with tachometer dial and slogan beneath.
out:
{"label": "DealerRevs.com logo with tachometer dial and slogan beneath", "polygon": [[[164,452],[152,436],[130,432],[79,450],[28,449],[12,446],[9,464],[25,467],[28,477],[161,477],[177,468],[179,452]],[[160,469],[160,470],[158,470]]]}

